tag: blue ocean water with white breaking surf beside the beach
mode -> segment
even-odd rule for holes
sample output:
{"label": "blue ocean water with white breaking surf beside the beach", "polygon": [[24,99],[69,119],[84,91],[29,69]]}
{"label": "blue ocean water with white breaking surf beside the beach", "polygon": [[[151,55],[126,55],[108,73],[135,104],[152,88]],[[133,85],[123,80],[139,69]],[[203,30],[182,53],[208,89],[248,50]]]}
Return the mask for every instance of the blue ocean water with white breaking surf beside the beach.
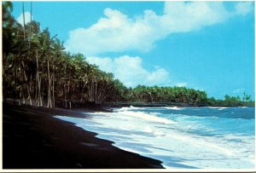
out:
{"label": "blue ocean water with white breaking surf beside the beach", "polygon": [[122,107],[73,122],[166,168],[253,169],[254,107]]}

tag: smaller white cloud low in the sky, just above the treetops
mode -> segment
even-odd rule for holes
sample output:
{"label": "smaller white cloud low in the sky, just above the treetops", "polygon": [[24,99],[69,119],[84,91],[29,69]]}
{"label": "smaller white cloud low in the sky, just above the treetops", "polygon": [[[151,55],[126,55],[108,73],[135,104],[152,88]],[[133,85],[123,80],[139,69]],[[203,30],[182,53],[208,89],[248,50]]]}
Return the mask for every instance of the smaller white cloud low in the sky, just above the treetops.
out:
{"label": "smaller white cloud low in the sky, just above the treetops", "polygon": [[109,57],[88,57],[91,64],[96,64],[105,72],[113,72],[115,78],[119,78],[128,87],[135,87],[137,84],[148,86],[170,84],[170,74],[165,68],[155,68],[148,71],[143,68],[142,58],[128,55],[114,59]]}

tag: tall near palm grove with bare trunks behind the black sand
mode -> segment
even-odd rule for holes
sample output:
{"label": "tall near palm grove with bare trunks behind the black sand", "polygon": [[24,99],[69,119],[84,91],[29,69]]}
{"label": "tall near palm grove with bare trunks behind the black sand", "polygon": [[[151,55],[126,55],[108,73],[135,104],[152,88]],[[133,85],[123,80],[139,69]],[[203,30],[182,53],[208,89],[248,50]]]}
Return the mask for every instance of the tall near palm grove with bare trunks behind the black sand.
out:
{"label": "tall near palm grove with bare trunks behind the black sand", "polygon": [[37,21],[20,25],[11,15],[12,3],[3,2],[2,8],[3,99],[38,107],[62,101],[67,107],[68,101],[101,104],[109,95],[120,95],[123,84],[112,73],[89,64],[84,55],[64,51],[63,43],[48,28],[41,31]]}

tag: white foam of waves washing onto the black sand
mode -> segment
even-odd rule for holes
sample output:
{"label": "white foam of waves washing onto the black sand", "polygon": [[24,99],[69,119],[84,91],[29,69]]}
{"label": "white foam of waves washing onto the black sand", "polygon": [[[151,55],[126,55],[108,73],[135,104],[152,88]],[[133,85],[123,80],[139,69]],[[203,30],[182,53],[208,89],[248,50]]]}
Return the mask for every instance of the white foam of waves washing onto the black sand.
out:
{"label": "white foam of waves washing onto the black sand", "polygon": [[[126,151],[159,159],[166,168],[177,168],[179,164],[181,167],[188,165],[214,169],[252,168],[255,165],[252,161],[255,153],[254,136],[201,136],[191,133],[191,130],[211,130],[211,126],[202,124],[201,118],[169,114],[167,119],[160,117],[163,116],[162,112],[150,112],[149,107],[145,111],[137,110],[137,107],[127,108],[115,112],[92,112],[90,114],[100,116],[84,120],[56,118],[67,119],[84,130],[95,131],[99,134],[97,137],[114,141],[114,146]],[[218,118],[213,120],[218,122]],[[212,128],[213,131],[216,130],[215,127]],[[181,160],[176,161],[175,158]]]}

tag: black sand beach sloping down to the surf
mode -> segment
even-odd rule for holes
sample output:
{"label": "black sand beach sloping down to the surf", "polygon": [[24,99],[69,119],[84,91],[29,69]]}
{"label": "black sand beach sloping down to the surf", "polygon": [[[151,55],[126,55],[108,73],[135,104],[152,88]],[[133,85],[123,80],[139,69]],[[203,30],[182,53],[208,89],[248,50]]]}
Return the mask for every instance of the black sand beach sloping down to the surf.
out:
{"label": "black sand beach sloping down to the surf", "polygon": [[3,104],[3,169],[159,169],[161,162],[112,146],[54,115],[79,110]]}

